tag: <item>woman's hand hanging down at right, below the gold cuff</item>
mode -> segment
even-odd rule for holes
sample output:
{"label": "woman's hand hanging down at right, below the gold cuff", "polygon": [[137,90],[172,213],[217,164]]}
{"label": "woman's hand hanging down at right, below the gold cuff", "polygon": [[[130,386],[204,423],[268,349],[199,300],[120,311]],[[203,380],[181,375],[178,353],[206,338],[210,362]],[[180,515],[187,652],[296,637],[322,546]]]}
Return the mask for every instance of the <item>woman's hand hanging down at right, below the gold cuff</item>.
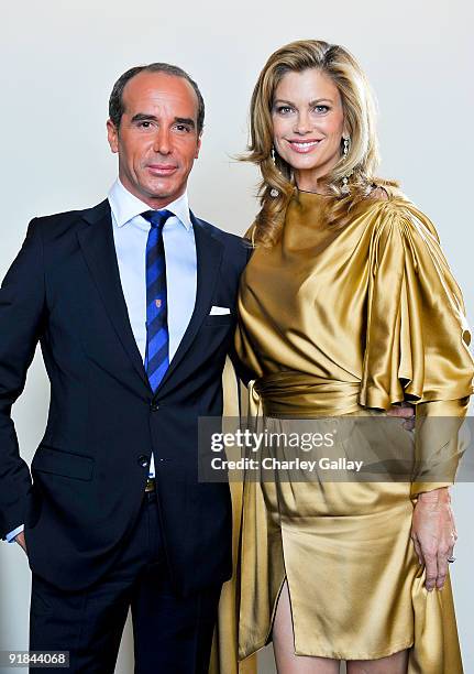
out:
{"label": "woman's hand hanging down at right, below the gold cuff", "polygon": [[448,557],[458,539],[448,487],[418,496],[414,510],[411,540],[421,565],[427,569],[427,590],[441,589],[448,574]]}

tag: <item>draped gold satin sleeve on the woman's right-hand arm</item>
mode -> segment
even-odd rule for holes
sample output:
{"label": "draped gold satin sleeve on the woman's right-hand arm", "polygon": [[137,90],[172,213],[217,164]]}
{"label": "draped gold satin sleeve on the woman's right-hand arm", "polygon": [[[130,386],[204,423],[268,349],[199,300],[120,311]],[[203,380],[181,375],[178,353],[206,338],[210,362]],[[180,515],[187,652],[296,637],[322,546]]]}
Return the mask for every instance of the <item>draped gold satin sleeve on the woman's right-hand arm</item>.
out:
{"label": "draped gold satin sleeve on the woman's right-hand arm", "polygon": [[473,392],[464,303],[430,220],[385,202],[370,249],[367,328],[360,402],[416,405],[412,493],[454,481],[458,432]]}

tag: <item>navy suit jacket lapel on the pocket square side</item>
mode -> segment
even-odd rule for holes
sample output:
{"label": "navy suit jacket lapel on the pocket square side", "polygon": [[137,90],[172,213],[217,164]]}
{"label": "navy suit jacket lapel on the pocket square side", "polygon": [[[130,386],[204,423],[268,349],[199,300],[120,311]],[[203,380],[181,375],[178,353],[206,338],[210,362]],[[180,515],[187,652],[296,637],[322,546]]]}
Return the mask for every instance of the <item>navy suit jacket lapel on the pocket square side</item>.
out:
{"label": "navy suit jacket lapel on the pocket square side", "polygon": [[212,294],[214,292],[218,272],[221,264],[223,246],[212,236],[211,228],[196,218],[191,213],[191,222],[195,231],[196,258],[197,258],[197,289],[196,304],[189,325],[173,357],[172,362],[163,378],[156,393],[161,393],[163,387],[173,376],[179,362],[185,357],[195,339],[202,320],[209,314]]}

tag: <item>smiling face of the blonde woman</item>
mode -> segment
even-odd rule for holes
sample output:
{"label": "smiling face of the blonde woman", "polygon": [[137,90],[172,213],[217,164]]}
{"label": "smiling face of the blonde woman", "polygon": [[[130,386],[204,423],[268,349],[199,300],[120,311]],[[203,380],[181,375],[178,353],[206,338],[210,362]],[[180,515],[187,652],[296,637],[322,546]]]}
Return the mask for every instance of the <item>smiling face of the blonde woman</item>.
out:
{"label": "smiling face of the blonde woman", "polygon": [[318,180],[341,156],[344,112],[338,87],[317,68],[287,73],[276,87],[272,119],[275,149],[294,170],[296,184],[317,192]]}

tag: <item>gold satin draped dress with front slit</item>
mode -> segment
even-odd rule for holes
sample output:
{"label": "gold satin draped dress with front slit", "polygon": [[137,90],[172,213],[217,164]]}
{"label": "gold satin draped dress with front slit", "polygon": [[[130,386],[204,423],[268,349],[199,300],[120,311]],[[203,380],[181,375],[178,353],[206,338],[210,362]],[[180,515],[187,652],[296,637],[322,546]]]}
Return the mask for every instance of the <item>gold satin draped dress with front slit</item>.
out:
{"label": "gold satin draped dress with front slit", "polygon": [[397,422],[399,437],[384,442],[421,459],[442,446],[450,475],[245,483],[240,657],[271,639],[287,579],[296,654],[375,660],[410,649],[409,674],[460,674],[450,580],[425,589],[410,526],[417,493],[452,483],[458,465],[474,373],[461,291],[434,227],[404,195],[365,199],[344,227],[326,226],[330,198],[295,191],[279,241],[257,246],[241,280],[236,351],[255,373],[261,430],[366,421],[411,401],[417,418],[454,417],[454,437],[414,439]]}

